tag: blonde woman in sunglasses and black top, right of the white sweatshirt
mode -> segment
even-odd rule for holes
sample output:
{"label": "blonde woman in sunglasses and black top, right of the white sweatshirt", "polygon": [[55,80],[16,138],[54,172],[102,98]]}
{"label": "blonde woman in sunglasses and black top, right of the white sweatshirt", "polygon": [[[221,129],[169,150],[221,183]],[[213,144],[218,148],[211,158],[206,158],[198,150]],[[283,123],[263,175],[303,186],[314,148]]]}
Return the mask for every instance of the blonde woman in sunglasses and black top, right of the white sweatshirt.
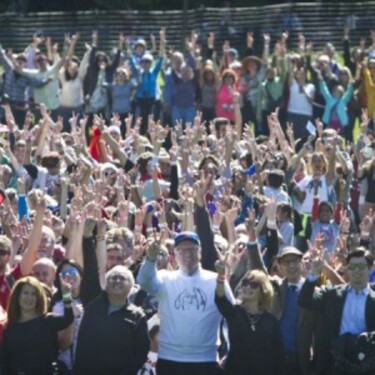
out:
{"label": "blonde woman in sunglasses and black top, right of the white sweatshirt", "polygon": [[227,375],[278,375],[282,371],[283,346],[277,319],[268,312],[273,288],[267,275],[250,271],[240,282],[239,302],[224,293],[225,260],[216,262],[215,302],[228,322],[230,349],[225,361]]}

